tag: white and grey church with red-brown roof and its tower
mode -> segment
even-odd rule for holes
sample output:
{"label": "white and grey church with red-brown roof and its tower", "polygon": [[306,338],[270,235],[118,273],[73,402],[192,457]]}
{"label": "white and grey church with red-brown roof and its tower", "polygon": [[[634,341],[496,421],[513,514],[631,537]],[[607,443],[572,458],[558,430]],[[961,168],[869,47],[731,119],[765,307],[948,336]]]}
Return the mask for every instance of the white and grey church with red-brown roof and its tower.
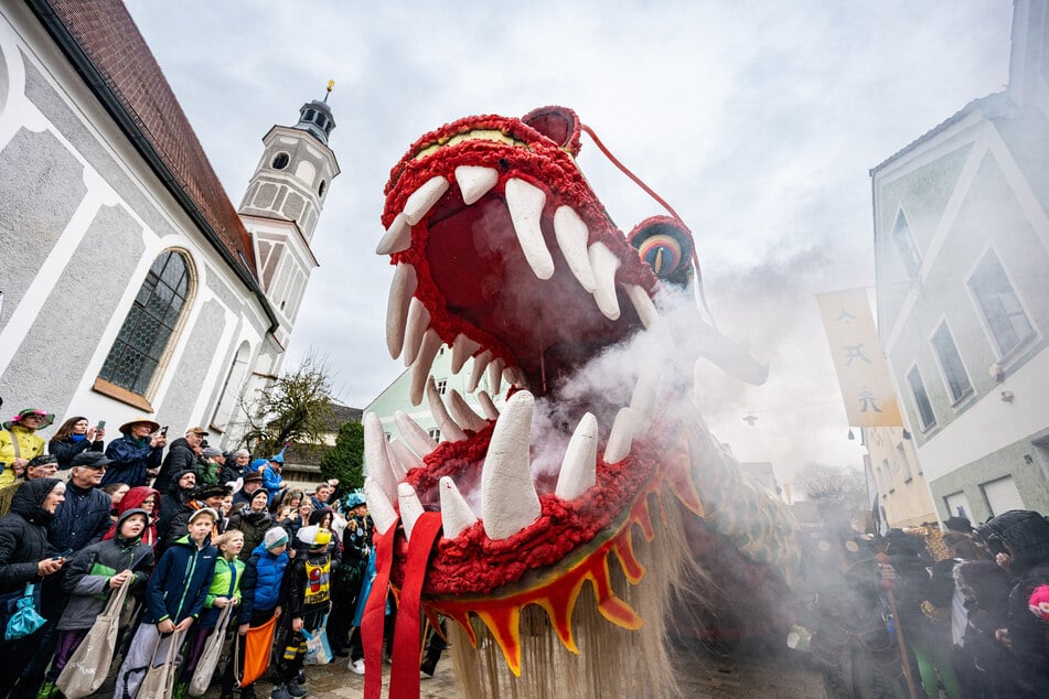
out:
{"label": "white and grey church with red-brown roof and its tower", "polygon": [[106,419],[110,439],[146,415],[235,444],[317,266],[333,127],[323,103],[274,127],[238,214],[119,0],[3,3],[7,408]]}

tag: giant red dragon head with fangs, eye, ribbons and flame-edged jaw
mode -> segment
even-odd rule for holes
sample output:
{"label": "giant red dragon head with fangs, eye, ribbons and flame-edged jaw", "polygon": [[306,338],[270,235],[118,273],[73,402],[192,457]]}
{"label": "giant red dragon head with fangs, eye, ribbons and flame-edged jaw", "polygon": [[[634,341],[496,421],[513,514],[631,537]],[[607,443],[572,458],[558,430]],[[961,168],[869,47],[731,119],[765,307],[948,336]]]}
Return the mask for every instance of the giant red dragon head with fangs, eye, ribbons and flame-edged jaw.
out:
{"label": "giant red dragon head with fangs, eye, ribbons and flame-edged jaw", "polygon": [[[416,141],[386,186],[377,252],[396,266],[388,348],[404,355],[411,400],[428,401],[445,439],[397,413],[403,441],[387,443],[379,418],[365,417],[378,580],[388,579],[402,604],[403,658],[415,656],[413,669],[398,669],[395,649],[399,692],[413,676],[418,687],[419,610],[457,622],[471,647],[497,648],[520,676],[523,648],[527,657],[537,635],[601,653],[598,639],[580,639],[582,607],[625,630],[614,632],[627,638],[622,648],[631,632],[654,628],[634,646],[651,655],[663,620],[638,607],[664,614],[667,591],[686,580],[710,598],[789,579],[796,562],[790,517],[739,475],[683,400],[691,370],[636,361],[628,379],[579,389],[576,378],[612,347],[682,342],[662,299],[693,278],[684,224],[660,216],[624,235],[577,168],[579,148],[580,123],[568,109],[470,117]],[[689,368],[702,354],[763,380],[763,367],[698,313],[687,324],[689,341],[674,355]],[[453,372],[472,359],[467,388],[480,412],[456,391],[442,397],[430,378],[446,346]],[[646,567],[670,578],[651,583],[659,603],[639,592],[650,584]],[[371,612],[384,592],[372,595]],[[381,632],[367,620],[365,643],[374,645]],[[410,639],[402,643],[403,625]],[[622,660],[618,653],[602,662]],[[632,673],[646,677],[644,663],[640,673],[636,663],[621,665],[635,669],[606,667],[609,686],[590,680],[589,691],[630,691],[622,685]],[[652,677],[641,680],[649,689],[660,684]],[[375,680],[366,681],[374,696]]]}

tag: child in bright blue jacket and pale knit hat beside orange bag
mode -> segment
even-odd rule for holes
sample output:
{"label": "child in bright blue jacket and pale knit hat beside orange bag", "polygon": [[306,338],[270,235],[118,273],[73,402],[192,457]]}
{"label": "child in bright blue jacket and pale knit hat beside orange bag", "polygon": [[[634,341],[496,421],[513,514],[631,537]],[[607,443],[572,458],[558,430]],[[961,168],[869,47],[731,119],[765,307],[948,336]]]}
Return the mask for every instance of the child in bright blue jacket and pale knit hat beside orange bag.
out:
{"label": "child in bright blue jacket and pale knit hat beside orange bag", "polygon": [[[285,569],[288,567],[287,549],[288,534],[281,527],[274,527],[266,531],[263,542],[255,547],[245,563],[240,579],[240,606],[237,610],[239,662],[234,666],[231,660],[226,666],[222,680],[222,699],[233,698],[235,675],[243,677],[245,635],[250,628],[258,628],[274,616],[280,616]],[[255,699],[254,682],[240,687],[240,699]]]}

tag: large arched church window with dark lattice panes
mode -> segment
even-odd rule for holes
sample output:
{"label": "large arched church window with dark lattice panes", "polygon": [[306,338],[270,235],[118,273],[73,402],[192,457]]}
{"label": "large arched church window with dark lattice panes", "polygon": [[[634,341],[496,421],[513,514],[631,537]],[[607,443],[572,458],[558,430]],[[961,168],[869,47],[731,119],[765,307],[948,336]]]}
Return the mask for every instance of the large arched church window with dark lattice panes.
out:
{"label": "large arched church window with dark lattice panes", "polygon": [[[97,389],[125,400],[129,396],[148,400],[158,368],[164,364],[179,321],[189,307],[193,280],[193,268],[184,252],[164,250],[160,254],[109,348],[98,373]],[[148,408],[148,404],[144,407]]]}

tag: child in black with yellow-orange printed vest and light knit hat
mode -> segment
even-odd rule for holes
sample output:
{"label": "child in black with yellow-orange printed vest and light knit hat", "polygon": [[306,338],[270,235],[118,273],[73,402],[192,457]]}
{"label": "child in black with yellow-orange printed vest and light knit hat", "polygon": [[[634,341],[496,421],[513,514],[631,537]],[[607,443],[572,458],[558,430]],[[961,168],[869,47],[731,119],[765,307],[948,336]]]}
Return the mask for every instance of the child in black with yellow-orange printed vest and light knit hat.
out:
{"label": "child in black with yellow-orange printed vest and light knit hat", "polygon": [[306,660],[306,636],[301,632],[315,633],[331,604],[331,531],[310,525],[299,529],[298,538],[302,549],[288,570],[286,645],[277,660],[271,699],[306,696],[296,682]]}

